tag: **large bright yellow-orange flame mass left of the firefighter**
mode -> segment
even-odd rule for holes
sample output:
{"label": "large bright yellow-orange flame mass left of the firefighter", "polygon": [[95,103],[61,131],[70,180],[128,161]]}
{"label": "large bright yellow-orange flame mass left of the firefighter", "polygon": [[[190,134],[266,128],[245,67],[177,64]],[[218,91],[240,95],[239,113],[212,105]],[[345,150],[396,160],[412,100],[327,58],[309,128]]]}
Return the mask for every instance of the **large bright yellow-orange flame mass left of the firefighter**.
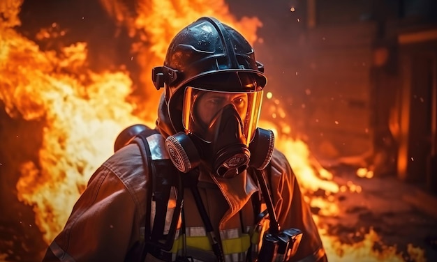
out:
{"label": "large bright yellow-orange flame mass left of the firefighter", "polygon": [[87,70],[85,43],[65,47],[59,58],[4,25],[0,75],[7,77],[1,78],[0,100],[11,117],[45,123],[38,162],[21,164],[17,198],[34,207],[36,225],[50,242],[89,176],[112,153],[108,141],[144,121],[124,102],[131,87],[127,72]]}

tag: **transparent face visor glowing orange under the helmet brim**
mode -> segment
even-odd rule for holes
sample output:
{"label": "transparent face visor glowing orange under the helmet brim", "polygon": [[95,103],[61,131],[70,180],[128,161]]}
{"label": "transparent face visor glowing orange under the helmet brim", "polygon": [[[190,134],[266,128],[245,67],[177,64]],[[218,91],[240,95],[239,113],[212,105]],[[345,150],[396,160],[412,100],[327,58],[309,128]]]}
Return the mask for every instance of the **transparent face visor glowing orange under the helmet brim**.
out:
{"label": "transparent face visor glowing orange under the helmet brim", "polygon": [[214,125],[221,118],[223,108],[232,105],[242,124],[246,143],[253,139],[258,126],[262,90],[251,92],[223,92],[187,86],[184,92],[182,119],[187,132],[212,142],[216,134]]}

